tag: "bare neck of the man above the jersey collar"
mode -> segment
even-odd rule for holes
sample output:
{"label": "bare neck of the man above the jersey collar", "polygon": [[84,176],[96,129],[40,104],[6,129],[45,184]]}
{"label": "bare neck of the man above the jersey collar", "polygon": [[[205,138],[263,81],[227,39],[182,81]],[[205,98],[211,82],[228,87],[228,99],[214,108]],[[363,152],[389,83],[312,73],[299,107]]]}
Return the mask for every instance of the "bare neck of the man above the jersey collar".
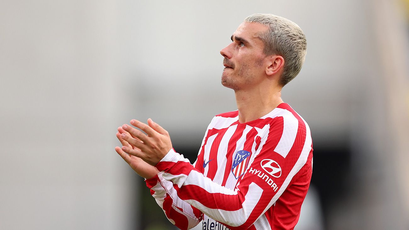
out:
{"label": "bare neck of the man above the jersey collar", "polygon": [[273,91],[263,89],[235,91],[238,108],[238,121],[246,123],[254,121],[271,112],[283,103],[281,88]]}

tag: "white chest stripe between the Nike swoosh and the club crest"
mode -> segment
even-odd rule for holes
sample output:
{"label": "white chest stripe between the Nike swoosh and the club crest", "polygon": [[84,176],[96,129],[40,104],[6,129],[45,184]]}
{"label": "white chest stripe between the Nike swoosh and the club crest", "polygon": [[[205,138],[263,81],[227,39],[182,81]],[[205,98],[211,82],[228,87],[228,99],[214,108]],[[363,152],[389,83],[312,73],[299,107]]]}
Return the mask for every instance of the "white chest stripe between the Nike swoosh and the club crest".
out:
{"label": "white chest stripe between the Nike swoosh and the club crest", "polygon": [[[215,177],[213,178],[213,181],[221,184],[223,182],[223,178],[225,176],[225,166],[226,165],[226,154],[227,154],[227,148],[229,147],[229,140],[231,139],[231,136],[233,136],[234,132],[236,132],[237,125],[230,126],[225,134],[222,137],[222,140],[220,141],[219,148],[217,150],[217,171],[215,174]],[[229,169],[231,170],[231,169]]]}

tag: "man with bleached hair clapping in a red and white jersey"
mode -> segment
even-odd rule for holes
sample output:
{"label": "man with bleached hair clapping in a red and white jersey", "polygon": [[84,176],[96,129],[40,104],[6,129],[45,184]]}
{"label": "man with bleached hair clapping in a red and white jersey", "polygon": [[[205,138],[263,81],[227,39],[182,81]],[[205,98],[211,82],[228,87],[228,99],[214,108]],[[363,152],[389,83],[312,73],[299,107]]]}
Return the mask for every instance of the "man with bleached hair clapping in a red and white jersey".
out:
{"label": "man with bleached hair clapping in a red and white jersey", "polygon": [[312,173],[307,123],[281,100],[300,71],[306,38],[272,14],[245,19],[220,51],[222,85],[238,110],[213,117],[191,165],[168,132],[148,119],[118,128],[115,150],[145,177],[166,217],[180,229],[293,229]]}

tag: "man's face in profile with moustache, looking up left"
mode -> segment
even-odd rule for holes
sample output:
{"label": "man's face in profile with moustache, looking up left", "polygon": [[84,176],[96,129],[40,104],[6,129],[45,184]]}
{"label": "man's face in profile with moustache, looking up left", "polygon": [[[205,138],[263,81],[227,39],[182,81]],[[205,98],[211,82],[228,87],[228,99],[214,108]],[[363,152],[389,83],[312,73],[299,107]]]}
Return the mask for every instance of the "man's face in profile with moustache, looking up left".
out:
{"label": "man's face in profile with moustache, looking up left", "polygon": [[258,34],[267,29],[267,26],[253,22],[243,22],[238,26],[231,36],[232,42],[220,51],[225,66],[222,85],[236,91],[251,88],[262,80],[265,55],[264,44]]}

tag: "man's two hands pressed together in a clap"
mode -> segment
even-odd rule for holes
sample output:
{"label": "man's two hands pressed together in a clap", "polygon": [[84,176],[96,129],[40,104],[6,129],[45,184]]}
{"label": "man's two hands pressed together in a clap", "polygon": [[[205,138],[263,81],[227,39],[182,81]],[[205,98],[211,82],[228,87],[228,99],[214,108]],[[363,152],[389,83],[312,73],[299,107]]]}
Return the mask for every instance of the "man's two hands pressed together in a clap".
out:
{"label": "man's two hands pressed together in a clap", "polygon": [[122,147],[115,147],[115,151],[137,174],[151,178],[159,172],[154,166],[172,149],[171,138],[150,118],[148,124],[137,120],[130,124],[140,130],[127,124],[118,127],[116,136]]}

